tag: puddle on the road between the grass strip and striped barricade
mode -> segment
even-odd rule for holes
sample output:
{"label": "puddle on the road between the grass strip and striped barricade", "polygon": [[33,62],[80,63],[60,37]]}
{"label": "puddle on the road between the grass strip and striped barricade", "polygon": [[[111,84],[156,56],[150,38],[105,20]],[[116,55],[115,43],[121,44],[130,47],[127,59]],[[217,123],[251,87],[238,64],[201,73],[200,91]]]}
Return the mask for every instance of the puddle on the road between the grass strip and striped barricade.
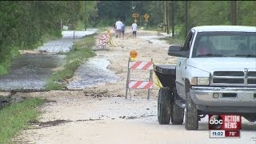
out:
{"label": "puddle on the road between the grass strip and striped barricade", "polygon": [[68,89],[85,89],[98,83],[116,82],[118,77],[115,76],[106,67],[110,64],[104,58],[91,58],[88,62],[79,66],[74,77],[77,78],[67,86]]}

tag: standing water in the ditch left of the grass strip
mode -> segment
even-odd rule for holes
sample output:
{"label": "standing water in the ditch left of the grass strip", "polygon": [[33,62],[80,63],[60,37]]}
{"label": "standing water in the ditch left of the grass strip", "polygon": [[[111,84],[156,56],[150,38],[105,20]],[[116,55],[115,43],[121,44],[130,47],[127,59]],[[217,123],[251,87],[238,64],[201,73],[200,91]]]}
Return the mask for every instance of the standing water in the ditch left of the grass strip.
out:
{"label": "standing water in the ditch left of the grass strip", "polygon": [[14,58],[10,73],[0,76],[0,90],[42,90],[52,69],[65,62],[59,52],[70,51],[78,38],[94,34],[97,29],[86,31],[62,31],[63,38],[46,42],[38,47],[39,51],[57,54],[23,54]]}

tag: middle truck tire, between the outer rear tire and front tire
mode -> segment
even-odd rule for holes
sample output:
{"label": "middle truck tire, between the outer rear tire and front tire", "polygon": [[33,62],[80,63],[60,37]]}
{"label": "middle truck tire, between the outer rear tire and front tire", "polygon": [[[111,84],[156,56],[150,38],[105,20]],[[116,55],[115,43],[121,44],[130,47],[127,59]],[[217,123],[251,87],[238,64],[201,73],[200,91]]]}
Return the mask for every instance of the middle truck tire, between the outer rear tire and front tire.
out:
{"label": "middle truck tire, between the outer rear tire and front tire", "polygon": [[178,97],[176,89],[173,90],[172,94],[173,94],[172,95],[173,104],[171,105],[171,114],[170,114],[171,123],[174,125],[182,125],[183,119],[184,119],[184,109],[175,103],[176,100],[180,99]]}

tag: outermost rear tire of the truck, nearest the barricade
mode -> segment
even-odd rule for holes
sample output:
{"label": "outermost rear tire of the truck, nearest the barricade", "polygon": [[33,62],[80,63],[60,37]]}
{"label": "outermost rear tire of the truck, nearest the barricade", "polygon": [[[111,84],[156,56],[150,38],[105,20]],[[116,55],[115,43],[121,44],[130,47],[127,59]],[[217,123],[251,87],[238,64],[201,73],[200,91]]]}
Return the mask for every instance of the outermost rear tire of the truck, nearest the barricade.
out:
{"label": "outermost rear tire of the truck, nearest the barricade", "polygon": [[170,89],[162,87],[158,92],[158,123],[168,125],[170,123]]}

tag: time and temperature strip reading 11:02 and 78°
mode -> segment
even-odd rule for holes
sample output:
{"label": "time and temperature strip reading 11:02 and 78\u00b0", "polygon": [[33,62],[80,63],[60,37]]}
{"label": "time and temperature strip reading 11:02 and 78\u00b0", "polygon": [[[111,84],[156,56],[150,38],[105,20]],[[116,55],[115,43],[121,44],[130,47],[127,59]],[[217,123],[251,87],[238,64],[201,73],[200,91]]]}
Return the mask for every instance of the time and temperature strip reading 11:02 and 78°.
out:
{"label": "time and temperature strip reading 11:02 and 78\u00b0", "polygon": [[209,138],[240,138],[240,130],[210,130]]}

